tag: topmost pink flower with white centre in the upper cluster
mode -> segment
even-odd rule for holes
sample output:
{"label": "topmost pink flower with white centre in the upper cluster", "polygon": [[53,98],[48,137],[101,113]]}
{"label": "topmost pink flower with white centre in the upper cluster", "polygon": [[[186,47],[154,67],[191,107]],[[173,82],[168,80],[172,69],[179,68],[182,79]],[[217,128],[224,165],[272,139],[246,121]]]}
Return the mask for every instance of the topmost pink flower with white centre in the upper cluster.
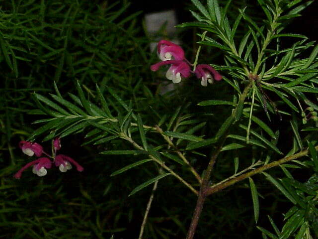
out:
{"label": "topmost pink flower with white centre in the upper cluster", "polygon": [[157,50],[161,61],[184,59],[184,51],[181,46],[174,44],[171,41],[160,40]]}

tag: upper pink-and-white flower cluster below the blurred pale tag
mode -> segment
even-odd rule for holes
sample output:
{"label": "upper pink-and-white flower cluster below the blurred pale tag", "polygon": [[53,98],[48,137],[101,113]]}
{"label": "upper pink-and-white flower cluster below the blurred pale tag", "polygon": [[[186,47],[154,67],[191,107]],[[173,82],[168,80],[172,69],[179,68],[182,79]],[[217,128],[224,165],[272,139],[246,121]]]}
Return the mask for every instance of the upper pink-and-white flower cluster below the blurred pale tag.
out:
{"label": "upper pink-and-white flower cluster below the blurred pale tag", "polygon": [[194,72],[192,72],[190,63],[185,58],[184,51],[179,45],[170,41],[160,40],[157,50],[161,62],[152,65],[151,70],[158,71],[160,66],[170,65],[165,76],[167,79],[172,80],[173,83],[179,83],[181,77],[187,78],[191,73],[201,79],[202,86],[207,86],[208,82],[212,84],[213,80],[222,80],[221,74],[207,64],[197,65]]}

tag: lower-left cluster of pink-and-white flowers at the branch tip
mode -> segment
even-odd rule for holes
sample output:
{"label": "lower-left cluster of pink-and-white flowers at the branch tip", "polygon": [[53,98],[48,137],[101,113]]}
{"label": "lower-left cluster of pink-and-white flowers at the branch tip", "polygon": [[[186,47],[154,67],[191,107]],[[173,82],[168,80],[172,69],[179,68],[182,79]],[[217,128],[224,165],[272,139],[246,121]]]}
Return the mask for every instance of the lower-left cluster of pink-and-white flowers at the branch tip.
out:
{"label": "lower-left cluster of pink-and-white flowers at the branch tip", "polygon": [[[59,154],[56,155],[57,150],[61,148],[61,140],[60,138],[55,138],[53,140],[54,147],[54,155],[51,156],[43,151],[43,147],[38,143],[31,143],[29,141],[20,141],[19,147],[22,149],[22,152],[28,156],[33,156],[34,154],[39,157],[38,159],[27,163],[23,166],[15,175],[15,178],[20,178],[22,172],[28,167],[33,166],[32,172],[40,177],[45,176],[47,174],[48,168],[51,168],[54,163],[55,166],[59,167],[61,172],[66,172],[67,170],[72,168],[72,164],[74,164],[79,172],[83,171],[83,167],[79,165],[73,158]],[[47,155],[48,157],[40,157],[42,154]],[[53,158],[51,161],[50,158]]]}

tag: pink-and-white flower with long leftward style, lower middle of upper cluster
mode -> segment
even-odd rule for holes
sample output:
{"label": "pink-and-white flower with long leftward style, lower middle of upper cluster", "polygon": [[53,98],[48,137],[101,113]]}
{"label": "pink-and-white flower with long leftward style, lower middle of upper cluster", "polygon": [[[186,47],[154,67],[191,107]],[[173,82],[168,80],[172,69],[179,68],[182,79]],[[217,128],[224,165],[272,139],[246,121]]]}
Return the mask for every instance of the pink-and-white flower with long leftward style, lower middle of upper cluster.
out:
{"label": "pink-and-white flower with long leftward style, lower middle of upper cluster", "polygon": [[172,80],[173,83],[179,83],[182,77],[190,76],[190,67],[187,63],[180,60],[167,60],[158,62],[150,67],[152,71],[158,71],[160,66],[171,64],[167,73],[165,74],[168,80]]}

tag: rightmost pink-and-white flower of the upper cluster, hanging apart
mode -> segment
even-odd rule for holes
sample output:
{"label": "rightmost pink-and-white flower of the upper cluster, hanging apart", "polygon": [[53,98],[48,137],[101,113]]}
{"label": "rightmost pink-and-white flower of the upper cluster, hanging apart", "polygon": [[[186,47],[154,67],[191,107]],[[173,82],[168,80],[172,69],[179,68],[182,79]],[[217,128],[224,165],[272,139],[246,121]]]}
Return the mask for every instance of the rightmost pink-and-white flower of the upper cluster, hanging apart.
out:
{"label": "rightmost pink-and-white flower of the upper cluster, hanging apart", "polygon": [[201,78],[201,85],[207,86],[208,82],[213,83],[213,80],[221,81],[222,76],[219,72],[217,72],[212,66],[207,64],[197,65],[194,71],[197,78]]}

